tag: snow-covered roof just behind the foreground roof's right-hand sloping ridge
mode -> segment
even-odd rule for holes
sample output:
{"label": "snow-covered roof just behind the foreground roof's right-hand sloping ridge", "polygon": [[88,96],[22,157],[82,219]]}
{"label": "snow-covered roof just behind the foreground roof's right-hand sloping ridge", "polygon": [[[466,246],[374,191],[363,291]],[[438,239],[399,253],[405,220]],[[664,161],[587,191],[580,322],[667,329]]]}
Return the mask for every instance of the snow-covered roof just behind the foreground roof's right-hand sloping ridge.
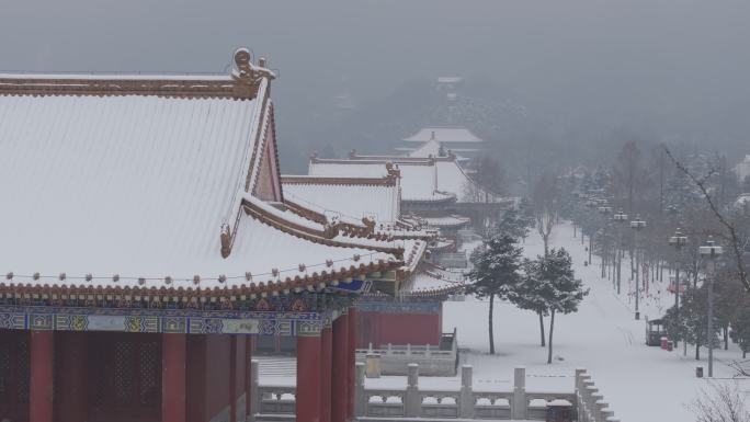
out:
{"label": "snow-covered roof just behind the foreground roof's right-hand sloping ridge", "polygon": [[321,214],[337,214],[375,221],[390,223],[399,218],[399,184],[397,178],[321,178],[283,176],[285,201],[306,206]]}

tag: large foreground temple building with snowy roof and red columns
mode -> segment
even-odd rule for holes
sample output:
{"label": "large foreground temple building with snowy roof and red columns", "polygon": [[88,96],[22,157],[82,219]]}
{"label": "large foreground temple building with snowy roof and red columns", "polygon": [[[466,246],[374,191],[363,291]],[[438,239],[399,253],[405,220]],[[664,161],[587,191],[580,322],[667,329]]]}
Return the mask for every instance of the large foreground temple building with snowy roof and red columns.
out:
{"label": "large foreground temple building with snowy roof and red columns", "polygon": [[0,76],[0,420],[242,421],[263,337],[296,345],[297,422],[351,420],[352,305],[424,242],[286,201],[273,79],[247,49],[230,75]]}

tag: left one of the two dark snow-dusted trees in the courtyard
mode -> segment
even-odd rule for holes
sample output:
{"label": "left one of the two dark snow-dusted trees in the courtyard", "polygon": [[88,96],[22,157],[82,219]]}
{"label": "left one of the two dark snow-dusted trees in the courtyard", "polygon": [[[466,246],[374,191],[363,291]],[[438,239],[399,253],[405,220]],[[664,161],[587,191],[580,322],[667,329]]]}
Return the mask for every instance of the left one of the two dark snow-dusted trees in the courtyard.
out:
{"label": "left one of the two dark snow-dusted trees in the courtyard", "polygon": [[489,298],[489,346],[495,354],[492,312],[495,298],[504,299],[520,282],[521,248],[518,240],[507,233],[498,233],[471,253],[474,267],[467,273],[471,284],[467,290],[477,297]]}

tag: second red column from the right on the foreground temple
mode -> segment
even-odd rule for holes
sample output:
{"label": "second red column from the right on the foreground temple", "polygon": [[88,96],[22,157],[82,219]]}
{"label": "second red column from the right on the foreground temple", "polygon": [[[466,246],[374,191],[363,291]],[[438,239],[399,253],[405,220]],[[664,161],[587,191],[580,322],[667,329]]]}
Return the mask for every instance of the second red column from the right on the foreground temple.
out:
{"label": "second red column from the right on the foreground temple", "polygon": [[349,318],[333,321],[333,375],[331,378],[331,421],[346,422],[349,400]]}

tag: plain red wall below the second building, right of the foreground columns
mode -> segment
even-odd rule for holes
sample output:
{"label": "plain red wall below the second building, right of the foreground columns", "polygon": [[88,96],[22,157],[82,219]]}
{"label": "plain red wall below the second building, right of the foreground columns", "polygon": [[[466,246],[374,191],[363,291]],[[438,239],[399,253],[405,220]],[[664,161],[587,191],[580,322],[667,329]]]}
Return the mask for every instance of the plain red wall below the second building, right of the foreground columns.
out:
{"label": "plain red wall below the second building, right of the foreground columns", "polygon": [[439,345],[443,331],[441,313],[387,313],[357,311],[356,346],[386,344]]}

